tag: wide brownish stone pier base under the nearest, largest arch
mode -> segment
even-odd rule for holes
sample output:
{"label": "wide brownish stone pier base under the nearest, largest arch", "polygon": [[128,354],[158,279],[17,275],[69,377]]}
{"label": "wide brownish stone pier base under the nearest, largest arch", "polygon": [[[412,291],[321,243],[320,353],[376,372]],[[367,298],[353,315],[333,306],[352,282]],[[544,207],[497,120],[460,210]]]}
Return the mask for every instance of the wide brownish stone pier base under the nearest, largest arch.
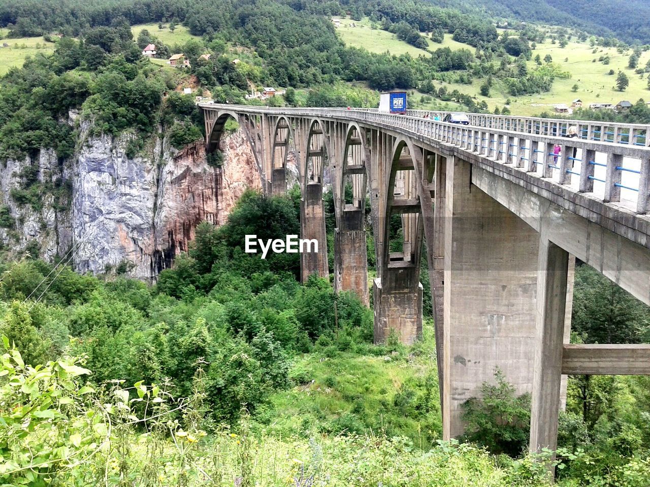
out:
{"label": "wide brownish stone pier base under the nearest, largest arch", "polygon": [[422,336],[422,284],[416,269],[391,269],[372,284],[374,343],[385,343],[395,331],[400,343]]}

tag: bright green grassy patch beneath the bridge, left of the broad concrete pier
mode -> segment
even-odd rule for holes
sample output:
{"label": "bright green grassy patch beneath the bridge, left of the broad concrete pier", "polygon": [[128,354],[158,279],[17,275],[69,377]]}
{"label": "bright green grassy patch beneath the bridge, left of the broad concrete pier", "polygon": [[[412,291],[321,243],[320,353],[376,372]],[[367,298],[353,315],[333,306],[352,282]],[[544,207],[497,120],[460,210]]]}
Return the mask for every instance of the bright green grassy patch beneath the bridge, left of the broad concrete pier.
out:
{"label": "bright green grassy patch beneath the bridge, left of the broad concrete pier", "polygon": [[283,437],[385,432],[430,447],[441,438],[432,323],[424,333],[423,342],[400,353],[369,345],[358,354],[329,347],[298,358],[296,386],[276,393],[258,420]]}

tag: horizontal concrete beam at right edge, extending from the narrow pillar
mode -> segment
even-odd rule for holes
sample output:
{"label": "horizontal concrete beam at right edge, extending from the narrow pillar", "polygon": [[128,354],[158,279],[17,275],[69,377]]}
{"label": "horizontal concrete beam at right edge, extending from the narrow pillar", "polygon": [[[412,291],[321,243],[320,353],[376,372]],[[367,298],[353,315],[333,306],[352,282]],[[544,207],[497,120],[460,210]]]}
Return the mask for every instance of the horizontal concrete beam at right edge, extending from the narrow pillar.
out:
{"label": "horizontal concrete beam at right edge, extending from the narrow pillar", "polygon": [[563,374],[650,374],[650,345],[564,345]]}

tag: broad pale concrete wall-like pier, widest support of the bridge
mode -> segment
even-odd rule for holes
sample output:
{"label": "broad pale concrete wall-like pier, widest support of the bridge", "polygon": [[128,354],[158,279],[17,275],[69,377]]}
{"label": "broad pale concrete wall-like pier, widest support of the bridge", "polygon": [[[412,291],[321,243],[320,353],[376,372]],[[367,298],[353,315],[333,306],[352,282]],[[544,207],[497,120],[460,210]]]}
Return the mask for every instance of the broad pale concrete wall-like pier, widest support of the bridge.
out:
{"label": "broad pale concrete wall-like pier, widest support of the bridge", "polygon": [[443,437],[463,433],[461,405],[499,368],[530,392],[536,343],[539,235],[471,184],[471,164],[447,159]]}

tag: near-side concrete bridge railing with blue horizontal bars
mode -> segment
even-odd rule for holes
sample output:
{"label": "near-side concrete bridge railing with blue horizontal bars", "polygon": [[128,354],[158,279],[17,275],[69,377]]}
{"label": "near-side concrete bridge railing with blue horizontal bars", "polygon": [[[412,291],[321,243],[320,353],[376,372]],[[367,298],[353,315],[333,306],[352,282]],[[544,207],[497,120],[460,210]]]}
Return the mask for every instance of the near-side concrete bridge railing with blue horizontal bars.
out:
{"label": "near-side concrete bridge railing with blue horizontal bars", "polygon": [[[330,118],[381,127],[424,142],[454,147],[537,177],[550,179],[605,203],[619,203],[638,214],[650,212],[650,148],[612,140],[565,138],[543,130],[515,131],[486,125],[458,125],[431,118],[347,108],[270,108],[200,104],[208,110]],[[525,119],[528,120],[528,119]],[[543,122],[544,119],[530,119]],[[506,127],[513,129],[512,124]],[[517,125],[521,128],[521,125]],[[593,127],[593,125],[592,125]],[[539,132],[539,133],[538,133]]]}

